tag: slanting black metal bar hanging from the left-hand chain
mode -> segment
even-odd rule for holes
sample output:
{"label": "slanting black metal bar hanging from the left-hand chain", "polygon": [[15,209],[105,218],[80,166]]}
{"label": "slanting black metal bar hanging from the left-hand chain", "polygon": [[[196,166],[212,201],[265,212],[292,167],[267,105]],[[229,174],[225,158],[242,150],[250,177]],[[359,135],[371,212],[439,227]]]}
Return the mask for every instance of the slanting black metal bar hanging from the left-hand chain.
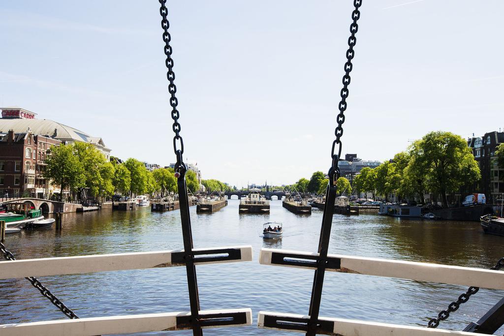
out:
{"label": "slanting black metal bar hanging from the left-hand chain", "polygon": [[[180,153],[180,152],[179,152]],[[177,177],[178,201],[180,205],[180,221],[182,223],[182,237],[184,241],[185,270],[187,273],[187,287],[189,290],[189,302],[191,304],[191,325],[193,335],[202,336],[200,325],[200,297],[198,293],[198,280],[196,278],[196,266],[193,253],[193,233],[191,231],[191,217],[189,215],[189,199],[187,197],[187,185],[185,183],[185,164],[177,155],[179,176]]]}

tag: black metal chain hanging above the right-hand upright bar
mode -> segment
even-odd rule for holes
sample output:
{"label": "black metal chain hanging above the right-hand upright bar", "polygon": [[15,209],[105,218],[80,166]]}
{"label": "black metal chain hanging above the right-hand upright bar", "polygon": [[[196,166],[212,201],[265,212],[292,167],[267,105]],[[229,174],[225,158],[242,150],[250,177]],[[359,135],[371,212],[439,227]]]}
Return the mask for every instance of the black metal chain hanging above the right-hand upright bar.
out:
{"label": "black metal chain hanging above the right-hand upright bar", "polygon": [[[340,177],[340,170],[338,168],[338,162],[341,158],[341,136],[343,136],[343,123],[345,122],[345,110],[347,109],[346,99],[348,98],[348,86],[350,85],[350,73],[352,72],[352,59],[355,56],[353,47],[357,43],[357,38],[355,34],[359,30],[359,25],[357,25],[357,20],[360,18],[359,7],[362,5],[362,0],[354,0],[353,6],[355,10],[352,12],[353,22],[350,25],[350,37],[348,38],[348,50],[346,52],[347,61],[344,65],[343,70],[345,70],[345,75],[343,76],[343,89],[340,91],[341,101],[338,105],[338,109],[340,113],[338,114],[336,121],[338,122],[338,126],[334,130],[334,135],[336,136],[336,140],[333,142],[333,147],[331,150],[331,158],[333,159],[333,166],[329,170],[329,178],[332,179],[333,183]],[[336,146],[338,146],[338,152],[336,153]]]}

